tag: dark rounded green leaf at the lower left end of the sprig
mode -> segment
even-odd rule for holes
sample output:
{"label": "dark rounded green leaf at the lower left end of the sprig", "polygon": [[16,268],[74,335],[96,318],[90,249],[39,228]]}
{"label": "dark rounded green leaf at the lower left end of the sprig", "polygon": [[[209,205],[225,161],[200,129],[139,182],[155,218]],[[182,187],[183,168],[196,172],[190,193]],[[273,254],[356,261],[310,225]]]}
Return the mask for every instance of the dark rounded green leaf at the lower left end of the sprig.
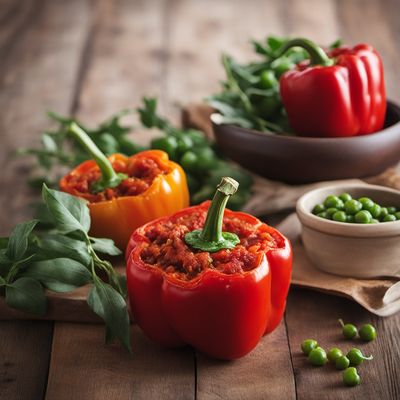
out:
{"label": "dark rounded green leaf at the lower left end of the sprig", "polygon": [[6,286],[6,303],[17,310],[44,315],[47,299],[42,285],[32,278],[19,278]]}

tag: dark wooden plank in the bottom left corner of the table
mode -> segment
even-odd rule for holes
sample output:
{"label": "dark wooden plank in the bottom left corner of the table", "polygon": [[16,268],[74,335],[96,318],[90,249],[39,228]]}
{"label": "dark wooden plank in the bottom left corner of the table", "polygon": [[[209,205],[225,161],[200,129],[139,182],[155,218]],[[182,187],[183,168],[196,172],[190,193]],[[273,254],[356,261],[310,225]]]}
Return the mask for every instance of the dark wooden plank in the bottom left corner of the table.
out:
{"label": "dark wooden plank in the bottom left corner of the table", "polygon": [[0,399],[43,398],[52,331],[50,322],[0,323]]}

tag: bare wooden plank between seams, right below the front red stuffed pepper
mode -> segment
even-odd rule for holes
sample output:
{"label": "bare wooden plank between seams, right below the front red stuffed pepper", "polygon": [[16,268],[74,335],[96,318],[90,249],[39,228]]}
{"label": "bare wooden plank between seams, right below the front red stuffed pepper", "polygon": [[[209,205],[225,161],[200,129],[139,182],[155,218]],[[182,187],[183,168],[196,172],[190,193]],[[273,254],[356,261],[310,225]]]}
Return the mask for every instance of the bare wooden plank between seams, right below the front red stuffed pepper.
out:
{"label": "bare wooden plank between seams, right below the front red stuffed pepper", "polygon": [[284,322],[247,356],[218,361],[197,354],[197,399],[295,399]]}

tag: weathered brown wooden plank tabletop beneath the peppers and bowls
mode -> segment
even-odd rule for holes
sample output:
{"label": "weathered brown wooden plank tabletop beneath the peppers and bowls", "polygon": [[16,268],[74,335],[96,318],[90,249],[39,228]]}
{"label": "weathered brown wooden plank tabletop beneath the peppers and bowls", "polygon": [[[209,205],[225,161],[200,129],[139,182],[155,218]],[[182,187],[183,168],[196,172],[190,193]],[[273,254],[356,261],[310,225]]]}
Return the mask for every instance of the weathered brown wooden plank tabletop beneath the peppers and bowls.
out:
{"label": "weathered brown wooden plank tabletop beneath the peppers and bowls", "polygon": [[[38,142],[46,110],[94,124],[149,94],[177,121],[180,105],[218,87],[221,51],[249,59],[248,39],[268,33],[371,43],[399,101],[399,9],[398,0],[0,0],[0,233],[30,215],[29,163],[13,152]],[[307,337],[349,348],[338,317],[379,332],[363,346],[375,358],[356,388],[299,352]],[[235,362],[161,348],[135,326],[132,335],[129,356],[103,345],[101,325],[0,322],[0,398],[400,398],[400,315],[377,318],[338,297],[292,288],[279,328]]]}

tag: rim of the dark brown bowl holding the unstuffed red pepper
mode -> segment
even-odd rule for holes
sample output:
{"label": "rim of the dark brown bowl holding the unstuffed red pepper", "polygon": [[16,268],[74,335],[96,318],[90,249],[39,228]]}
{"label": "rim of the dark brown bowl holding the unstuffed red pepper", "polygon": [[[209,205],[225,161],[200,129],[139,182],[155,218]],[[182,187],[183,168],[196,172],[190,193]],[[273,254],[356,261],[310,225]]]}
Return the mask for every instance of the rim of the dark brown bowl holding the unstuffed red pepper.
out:
{"label": "rim of the dark brown bowl holding the unstuffed red pepper", "polygon": [[[393,107],[397,108],[398,111],[400,112],[400,104],[395,103],[394,101],[387,100],[387,107]],[[400,120],[396,122],[393,125],[388,126],[387,128],[381,129],[377,132],[370,133],[368,135],[357,135],[357,136],[347,136],[347,137],[329,137],[329,138],[320,138],[320,137],[312,137],[312,136],[296,136],[296,135],[290,135],[290,134],[275,134],[272,132],[262,132],[258,131],[256,129],[251,129],[251,128],[243,128],[238,125],[234,124],[221,124],[218,122],[218,118],[222,116],[221,113],[219,112],[214,112],[210,115],[210,120],[214,126],[225,126],[231,129],[238,129],[241,131],[246,132],[247,134],[254,135],[257,137],[268,137],[272,140],[289,140],[289,141],[298,141],[298,142],[308,142],[308,143],[326,143],[328,140],[330,143],[344,143],[344,141],[347,141],[346,143],[353,142],[361,142],[361,141],[368,141],[368,140],[373,140],[372,138],[376,138],[378,135],[388,135],[392,134],[393,131],[397,132],[396,127],[400,125]]]}

